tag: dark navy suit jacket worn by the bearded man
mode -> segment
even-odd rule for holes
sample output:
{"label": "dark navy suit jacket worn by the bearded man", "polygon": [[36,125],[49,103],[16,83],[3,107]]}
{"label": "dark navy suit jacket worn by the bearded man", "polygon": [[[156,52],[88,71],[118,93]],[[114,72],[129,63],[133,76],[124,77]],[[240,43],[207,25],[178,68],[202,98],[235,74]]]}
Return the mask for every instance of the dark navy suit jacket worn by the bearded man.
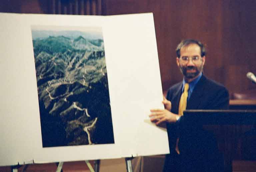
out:
{"label": "dark navy suit jacket worn by the bearded man", "polygon": [[[166,99],[171,101],[172,109],[171,112],[178,114],[179,102],[182,94],[182,82],[173,85],[167,92]],[[196,84],[190,99],[187,102],[186,109],[228,109],[229,106],[229,94],[228,90],[221,84],[206,78],[204,75],[200,78]],[[167,124],[168,138],[170,154],[175,154],[175,146],[177,137],[179,137],[179,149],[180,156],[184,157],[184,162],[189,164],[190,171],[193,171],[192,166],[195,165],[196,161],[202,161],[209,154],[216,151],[217,143],[214,140],[213,135],[207,131],[202,130],[198,126],[190,126],[183,123],[183,117],[180,118],[175,124]],[[212,155],[209,155],[212,156]],[[176,157],[171,156],[171,159]],[[216,158],[216,157],[213,157]],[[212,161],[213,159],[209,160]],[[167,160],[168,161],[168,160]],[[165,162],[165,168],[170,162]],[[171,160],[172,163],[177,164],[175,160]],[[202,165],[202,164],[200,164]],[[198,164],[196,165],[199,166]],[[184,167],[185,168],[185,167]],[[169,168],[168,168],[169,169]],[[197,168],[198,170],[198,168]],[[208,169],[209,170],[209,169]],[[168,170],[164,170],[168,171]],[[202,170],[203,171],[203,170]],[[212,170],[210,170],[212,171]]]}

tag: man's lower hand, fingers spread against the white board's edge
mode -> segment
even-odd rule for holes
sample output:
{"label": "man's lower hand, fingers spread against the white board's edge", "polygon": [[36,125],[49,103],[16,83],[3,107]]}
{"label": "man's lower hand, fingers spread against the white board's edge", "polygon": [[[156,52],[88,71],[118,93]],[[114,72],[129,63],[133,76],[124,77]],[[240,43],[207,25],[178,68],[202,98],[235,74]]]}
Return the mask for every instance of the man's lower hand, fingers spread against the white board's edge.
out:
{"label": "man's lower hand, fingers spread against the white board's edge", "polygon": [[168,111],[167,109],[151,109],[150,112],[150,121],[156,125],[163,122],[175,123],[177,121],[177,115]]}

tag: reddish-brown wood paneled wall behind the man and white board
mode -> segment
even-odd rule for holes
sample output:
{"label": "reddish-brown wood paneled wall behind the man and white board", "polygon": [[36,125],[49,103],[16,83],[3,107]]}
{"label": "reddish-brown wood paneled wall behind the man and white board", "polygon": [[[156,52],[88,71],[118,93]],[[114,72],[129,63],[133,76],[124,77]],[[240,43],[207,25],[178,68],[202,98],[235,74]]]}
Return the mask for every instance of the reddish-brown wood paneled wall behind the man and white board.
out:
{"label": "reddish-brown wood paneled wall behind the man and white board", "polygon": [[[0,12],[117,15],[153,12],[163,91],[181,81],[175,63],[183,39],[206,44],[204,73],[233,93],[256,90],[255,0],[3,0]],[[256,93],[255,93],[256,94]]]}

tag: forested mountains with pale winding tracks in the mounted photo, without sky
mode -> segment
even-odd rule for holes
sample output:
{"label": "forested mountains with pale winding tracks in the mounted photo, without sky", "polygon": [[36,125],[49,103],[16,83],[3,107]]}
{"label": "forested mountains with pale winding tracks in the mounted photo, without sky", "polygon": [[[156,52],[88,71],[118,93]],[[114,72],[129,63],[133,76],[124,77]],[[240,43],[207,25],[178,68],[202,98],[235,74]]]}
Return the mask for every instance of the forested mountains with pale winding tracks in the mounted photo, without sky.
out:
{"label": "forested mountains with pale winding tracks in the mounted photo, without sky", "polygon": [[103,39],[33,38],[33,49],[43,147],[114,143]]}

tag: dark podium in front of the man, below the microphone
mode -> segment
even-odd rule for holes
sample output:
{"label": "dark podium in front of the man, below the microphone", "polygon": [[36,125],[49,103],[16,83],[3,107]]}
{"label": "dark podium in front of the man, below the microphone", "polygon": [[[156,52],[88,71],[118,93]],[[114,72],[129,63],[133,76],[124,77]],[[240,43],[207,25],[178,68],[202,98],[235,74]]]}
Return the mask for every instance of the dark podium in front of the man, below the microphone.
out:
{"label": "dark podium in front of the man, below the microphone", "polygon": [[214,133],[225,172],[232,172],[233,160],[256,160],[256,110],[186,110],[184,123]]}

